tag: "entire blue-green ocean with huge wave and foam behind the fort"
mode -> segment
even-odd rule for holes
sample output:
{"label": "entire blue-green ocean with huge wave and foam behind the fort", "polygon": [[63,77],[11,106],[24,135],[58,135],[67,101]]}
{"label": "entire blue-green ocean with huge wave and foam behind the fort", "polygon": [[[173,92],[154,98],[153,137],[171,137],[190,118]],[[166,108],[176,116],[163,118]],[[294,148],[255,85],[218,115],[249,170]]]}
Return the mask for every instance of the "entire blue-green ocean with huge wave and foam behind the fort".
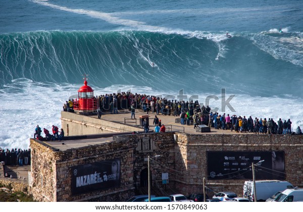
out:
{"label": "entire blue-green ocean with huge wave and foam behind the fort", "polygon": [[183,93],[219,113],[303,127],[302,1],[2,0],[0,8],[2,148],[29,148],[37,124],[60,128],[84,74],[94,95]]}

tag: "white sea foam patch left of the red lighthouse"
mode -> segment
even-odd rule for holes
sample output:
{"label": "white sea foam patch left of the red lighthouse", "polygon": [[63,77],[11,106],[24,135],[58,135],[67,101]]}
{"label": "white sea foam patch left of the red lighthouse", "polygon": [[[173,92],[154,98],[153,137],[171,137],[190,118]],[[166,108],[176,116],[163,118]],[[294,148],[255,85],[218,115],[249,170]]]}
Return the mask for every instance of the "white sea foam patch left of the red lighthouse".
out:
{"label": "white sea foam patch left of the red lighthouse", "polygon": [[[76,88],[70,85],[43,84],[27,79],[14,80],[0,92],[0,147],[28,148],[38,124],[51,130],[61,126],[60,111],[69,93]],[[17,91],[17,92],[15,92]]]}

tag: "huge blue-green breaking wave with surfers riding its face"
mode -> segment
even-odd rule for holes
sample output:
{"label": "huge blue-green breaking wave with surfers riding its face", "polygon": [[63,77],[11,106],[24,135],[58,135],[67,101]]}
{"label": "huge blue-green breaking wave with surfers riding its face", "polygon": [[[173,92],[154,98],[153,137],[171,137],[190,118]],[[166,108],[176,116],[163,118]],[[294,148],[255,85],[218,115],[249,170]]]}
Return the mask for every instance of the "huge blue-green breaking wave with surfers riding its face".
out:
{"label": "huge blue-green breaking wave with surfers riding its face", "polygon": [[[0,85],[35,82],[301,97],[302,34],[35,31],[0,35]],[[283,80],[283,83],[279,83]],[[301,87],[300,87],[301,88]],[[302,90],[302,89],[301,89]]]}

